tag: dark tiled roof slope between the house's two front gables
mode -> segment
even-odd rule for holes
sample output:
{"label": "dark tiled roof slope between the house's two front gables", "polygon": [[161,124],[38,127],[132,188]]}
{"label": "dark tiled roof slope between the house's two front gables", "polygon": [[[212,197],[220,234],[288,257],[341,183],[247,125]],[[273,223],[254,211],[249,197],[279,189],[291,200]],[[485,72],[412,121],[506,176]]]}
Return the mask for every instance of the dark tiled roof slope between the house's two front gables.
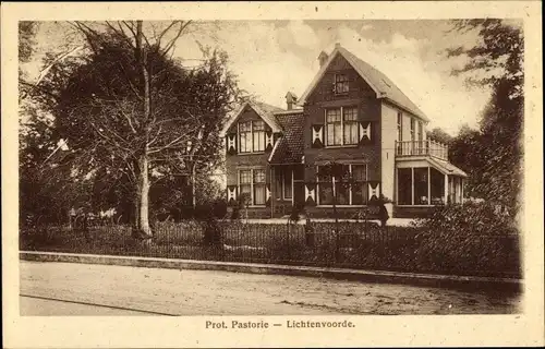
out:
{"label": "dark tiled roof slope between the house's two front gables", "polygon": [[283,134],[269,156],[270,164],[301,164],[304,154],[304,120],[300,110],[276,115]]}

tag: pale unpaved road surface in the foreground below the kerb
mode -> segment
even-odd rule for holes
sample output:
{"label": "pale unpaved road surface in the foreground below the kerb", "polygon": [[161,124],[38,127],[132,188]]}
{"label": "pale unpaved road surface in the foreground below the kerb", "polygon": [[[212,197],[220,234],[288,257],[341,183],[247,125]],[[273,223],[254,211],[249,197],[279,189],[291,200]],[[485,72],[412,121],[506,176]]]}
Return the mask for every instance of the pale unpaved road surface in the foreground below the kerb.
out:
{"label": "pale unpaved road surface in the foreground below the kerb", "polygon": [[21,261],[21,315],[501,314],[520,297],[314,277]]}

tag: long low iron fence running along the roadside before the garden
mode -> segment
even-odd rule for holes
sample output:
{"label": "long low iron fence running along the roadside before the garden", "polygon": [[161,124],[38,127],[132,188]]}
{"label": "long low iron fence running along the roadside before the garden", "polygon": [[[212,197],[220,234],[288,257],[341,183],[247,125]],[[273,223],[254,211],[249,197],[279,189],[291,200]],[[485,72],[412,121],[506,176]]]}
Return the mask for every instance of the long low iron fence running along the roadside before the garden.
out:
{"label": "long low iron fence running along the roadside before the garden", "polygon": [[[393,272],[520,277],[518,236],[429,241],[416,227],[371,222],[307,225],[184,221],[157,224],[149,241],[125,225],[24,228],[20,249],[202,261],[272,263]],[[439,243],[439,245],[437,245]],[[448,253],[445,244],[463,249]],[[484,249],[483,246],[496,246]],[[456,249],[455,249],[456,250]],[[445,252],[447,251],[447,252]]]}

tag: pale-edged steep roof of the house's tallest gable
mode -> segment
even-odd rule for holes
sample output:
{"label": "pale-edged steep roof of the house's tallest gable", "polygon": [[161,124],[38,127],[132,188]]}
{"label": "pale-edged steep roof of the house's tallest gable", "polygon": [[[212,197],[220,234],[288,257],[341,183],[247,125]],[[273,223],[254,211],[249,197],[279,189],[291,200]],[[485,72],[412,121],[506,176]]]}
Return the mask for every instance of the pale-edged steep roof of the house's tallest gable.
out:
{"label": "pale-edged steep roof of the house's tallest gable", "polygon": [[352,52],[341,46],[337,46],[331,55],[329,55],[328,60],[320,68],[298,103],[304,104],[305,99],[314,91],[337,55],[341,55],[352,65],[352,68],[354,68],[360,76],[371,86],[371,88],[373,88],[377,98],[385,98],[393,105],[410,111],[422,120],[426,122],[429,121],[426,115],[411,99],[409,99],[409,97],[407,97],[405,94],[403,94],[401,89],[399,89],[399,87],[396,86],[390,79],[388,79],[388,76],[375,69],[373,65],[355,57]]}

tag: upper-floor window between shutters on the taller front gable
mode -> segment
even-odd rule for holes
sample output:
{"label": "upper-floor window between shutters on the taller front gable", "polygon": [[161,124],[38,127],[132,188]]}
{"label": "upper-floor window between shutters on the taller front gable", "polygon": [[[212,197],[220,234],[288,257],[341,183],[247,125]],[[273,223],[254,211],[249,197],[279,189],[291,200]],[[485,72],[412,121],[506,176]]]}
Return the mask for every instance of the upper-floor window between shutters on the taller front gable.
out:
{"label": "upper-floor window between shutters on the taller front gable", "polygon": [[356,145],[360,141],[358,108],[326,109],[326,145]]}

